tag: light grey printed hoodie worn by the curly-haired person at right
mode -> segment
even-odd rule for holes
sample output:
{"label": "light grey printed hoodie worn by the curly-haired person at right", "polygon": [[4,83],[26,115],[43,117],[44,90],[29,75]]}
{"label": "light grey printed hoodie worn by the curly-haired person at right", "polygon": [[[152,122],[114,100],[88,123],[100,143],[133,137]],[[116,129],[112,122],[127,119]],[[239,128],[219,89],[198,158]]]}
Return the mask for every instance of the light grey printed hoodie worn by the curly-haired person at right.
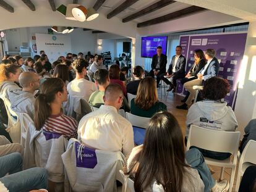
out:
{"label": "light grey printed hoodie worn by the curly-haired person at right", "polygon": [[190,125],[219,131],[234,131],[238,124],[234,111],[227,102],[204,100],[189,108],[186,120],[186,137]]}

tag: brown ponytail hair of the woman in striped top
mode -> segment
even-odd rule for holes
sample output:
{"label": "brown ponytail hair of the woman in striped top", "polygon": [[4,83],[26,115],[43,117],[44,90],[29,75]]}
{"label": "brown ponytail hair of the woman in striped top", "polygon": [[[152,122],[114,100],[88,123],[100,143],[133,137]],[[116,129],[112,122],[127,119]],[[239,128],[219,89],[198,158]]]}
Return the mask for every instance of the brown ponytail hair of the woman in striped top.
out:
{"label": "brown ponytail hair of the woman in striped top", "polygon": [[40,94],[35,100],[35,128],[40,130],[46,119],[51,115],[49,103],[53,102],[58,92],[63,92],[64,81],[60,78],[48,78],[40,88]]}

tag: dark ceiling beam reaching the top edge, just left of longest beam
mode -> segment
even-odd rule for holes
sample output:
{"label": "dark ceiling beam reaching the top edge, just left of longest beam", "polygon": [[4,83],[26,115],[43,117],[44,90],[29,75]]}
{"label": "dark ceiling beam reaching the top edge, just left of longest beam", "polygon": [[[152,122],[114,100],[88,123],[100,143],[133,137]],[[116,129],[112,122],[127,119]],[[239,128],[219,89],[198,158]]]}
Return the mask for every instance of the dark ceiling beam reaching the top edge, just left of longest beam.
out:
{"label": "dark ceiling beam reaching the top edge, just left of longest beam", "polygon": [[127,16],[126,18],[122,19],[122,22],[126,23],[126,22],[129,22],[130,20],[134,20],[138,17],[142,17],[143,15],[150,14],[151,12],[161,9],[162,7],[168,6],[169,4],[172,4],[174,2],[176,2],[176,1],[172,1],[172,0],[158,1],[154,4],[152,4],[151,6],[146,7],[145,9],[135,12],[135,14]]}

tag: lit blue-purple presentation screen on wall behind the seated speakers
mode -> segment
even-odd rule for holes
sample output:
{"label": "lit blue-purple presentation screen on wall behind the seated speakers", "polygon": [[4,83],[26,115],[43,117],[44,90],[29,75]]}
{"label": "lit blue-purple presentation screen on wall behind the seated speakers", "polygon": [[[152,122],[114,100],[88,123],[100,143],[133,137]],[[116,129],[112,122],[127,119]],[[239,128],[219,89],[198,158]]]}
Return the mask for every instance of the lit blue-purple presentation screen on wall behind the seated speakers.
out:
{"label": "lit blue-purple presentation screen on wall behind the seated speakers", "polygon": [[158,46],[162,47],[163,54],[166,55],[167,36],[143,36],[141,56],[152,58]]}

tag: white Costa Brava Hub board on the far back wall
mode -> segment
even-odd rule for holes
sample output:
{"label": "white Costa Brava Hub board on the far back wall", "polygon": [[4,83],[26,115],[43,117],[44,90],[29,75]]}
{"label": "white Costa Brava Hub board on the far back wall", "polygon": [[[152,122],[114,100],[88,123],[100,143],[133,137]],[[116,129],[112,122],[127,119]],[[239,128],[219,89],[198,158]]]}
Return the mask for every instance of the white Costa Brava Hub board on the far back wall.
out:
{"label": "white Costa Brava Hub board on the far back wall", "polygon": [[59,56],[66,56],[71,52],[70,36],[67,35],[49,35],[36,33],[37,51],[45,51],[49,62],[54,62]]}

